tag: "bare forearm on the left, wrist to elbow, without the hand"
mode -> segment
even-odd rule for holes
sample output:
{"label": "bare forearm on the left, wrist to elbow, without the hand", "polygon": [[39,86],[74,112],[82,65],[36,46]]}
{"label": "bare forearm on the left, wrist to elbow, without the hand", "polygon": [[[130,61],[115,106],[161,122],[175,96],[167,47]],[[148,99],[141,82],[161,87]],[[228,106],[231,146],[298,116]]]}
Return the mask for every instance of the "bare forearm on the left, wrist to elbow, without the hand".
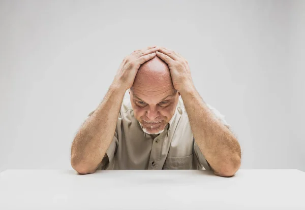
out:
{"label": "bare forearm on the left, wrist to elbow, without the hand", "polygon": [[125,89],[112,85],[95,112],[77,132],[71,148],[71,165],[80,173],[95,172],[113,139]]}

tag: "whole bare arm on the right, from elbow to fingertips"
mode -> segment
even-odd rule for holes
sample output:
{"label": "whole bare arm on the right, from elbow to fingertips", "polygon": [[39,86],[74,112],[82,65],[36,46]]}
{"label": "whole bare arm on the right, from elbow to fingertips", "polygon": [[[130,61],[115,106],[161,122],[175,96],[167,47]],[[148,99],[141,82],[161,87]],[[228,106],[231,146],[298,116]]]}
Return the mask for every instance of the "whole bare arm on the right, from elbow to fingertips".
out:
{"label": "whole bare arm on the right, from elbow to fingertips", "polygon": [[159,47],[157,56],[169,66],[174,88],[184,101],[195,141],[205,159],[216,175],[233,176],[240,167],[239,143],[233,133],[215,118],[196,91],[188,61],[164,47]]}

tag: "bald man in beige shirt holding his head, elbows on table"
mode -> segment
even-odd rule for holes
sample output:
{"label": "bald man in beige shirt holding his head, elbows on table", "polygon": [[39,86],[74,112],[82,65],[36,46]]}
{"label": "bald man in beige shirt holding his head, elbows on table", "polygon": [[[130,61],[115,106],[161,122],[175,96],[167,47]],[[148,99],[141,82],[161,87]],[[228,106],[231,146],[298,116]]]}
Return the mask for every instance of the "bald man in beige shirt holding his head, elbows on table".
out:
{"label": "bald man in beige shirt holding his head, elbows on table", "polygon": [[[124,99],[127,90],[130,99]],[[71,165],[81,174],[206,169],[231,177],[240,158],[230,125],[196,91],[188,61],[158,46],[125,57],[71,148]]]}

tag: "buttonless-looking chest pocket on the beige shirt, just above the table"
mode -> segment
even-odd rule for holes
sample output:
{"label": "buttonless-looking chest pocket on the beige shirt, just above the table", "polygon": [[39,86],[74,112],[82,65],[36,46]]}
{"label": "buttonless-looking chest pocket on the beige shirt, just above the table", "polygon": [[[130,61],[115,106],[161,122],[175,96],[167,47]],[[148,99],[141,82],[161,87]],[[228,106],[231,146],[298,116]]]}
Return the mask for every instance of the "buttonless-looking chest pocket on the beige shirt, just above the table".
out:
{"label": "buttonless-looking chest pocket on the beige shirt, just above the table", "polygon": [[193,154],[185,157],[167,157],[162,169],[193,169],[192,165]]}

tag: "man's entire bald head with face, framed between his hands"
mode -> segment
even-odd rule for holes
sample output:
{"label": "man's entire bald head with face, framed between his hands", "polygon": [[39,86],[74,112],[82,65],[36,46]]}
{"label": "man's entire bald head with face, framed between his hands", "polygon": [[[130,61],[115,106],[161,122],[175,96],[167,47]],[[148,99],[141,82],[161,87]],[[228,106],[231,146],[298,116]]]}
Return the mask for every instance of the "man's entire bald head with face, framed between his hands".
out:
{"label": "man's entire bald head with face, framed between his hands", "polygon": [[143,63],[129,92],[134,116],[143,131],[161,133],[174,115],[179,99],[168,65],[158,57]]}

